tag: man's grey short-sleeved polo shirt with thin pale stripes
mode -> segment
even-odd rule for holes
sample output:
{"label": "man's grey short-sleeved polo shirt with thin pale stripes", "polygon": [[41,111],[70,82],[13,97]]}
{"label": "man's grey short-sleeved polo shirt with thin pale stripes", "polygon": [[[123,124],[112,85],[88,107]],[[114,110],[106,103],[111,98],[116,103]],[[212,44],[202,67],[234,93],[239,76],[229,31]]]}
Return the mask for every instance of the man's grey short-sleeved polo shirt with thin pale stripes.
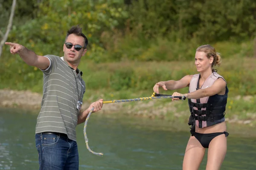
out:
{"label": "man's grey short-sleeved polo shirt with thin pale stripes", "polygon": [[83,101],[85,83],[79,69],[71,68],[63,57],[46,55],[50,65],[44,73],[43,99],[35,133],[58,132],[76,141],[79,111],[77,102]]}

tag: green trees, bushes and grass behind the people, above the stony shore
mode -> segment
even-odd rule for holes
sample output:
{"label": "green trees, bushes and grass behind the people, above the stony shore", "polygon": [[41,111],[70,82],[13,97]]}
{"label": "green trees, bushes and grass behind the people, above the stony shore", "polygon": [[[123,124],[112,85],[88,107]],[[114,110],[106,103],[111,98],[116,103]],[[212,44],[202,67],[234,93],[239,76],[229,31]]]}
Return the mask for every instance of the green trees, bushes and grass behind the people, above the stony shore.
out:
{"label": "green trees, bushes and grass behind the people, above the stony shore", "polygon": [[[10,7],[11,1],[0,0],[2,32]],[[223,59],[235,57],[234,61],[240,63],[252,57],[255,21],[255,0],[22,0],[17,2],[8,41],[39,55],[62,56],[66,31],[80,25],[89,40],[81,70],[87,73],[85,79],[90,88],[148,90],[151,82],[189,74],[192,68],[187,65],[180,69],[161,64],[192,61],[195,49],[202,44],[213,45]],[[105,62],[119,64],[104,65]],[[101,64],[104,66],[95,70]],[[253,74],[233,66],[235,74],[233,68],[226,66],[223,75],[227,75],[231,91],[256,94]],[[42,73],[11,55],[4,46],[0,82],[4,82],[0,88],[41,91]]]}

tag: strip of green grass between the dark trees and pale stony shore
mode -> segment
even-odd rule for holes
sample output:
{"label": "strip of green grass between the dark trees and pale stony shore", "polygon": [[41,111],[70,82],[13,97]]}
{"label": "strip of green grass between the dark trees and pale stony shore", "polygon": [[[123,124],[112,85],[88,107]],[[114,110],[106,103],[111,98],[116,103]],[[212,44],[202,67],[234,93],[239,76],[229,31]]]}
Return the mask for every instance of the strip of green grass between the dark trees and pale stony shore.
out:
{"label": "strip of green grass between the dark trees and pale stony shore", "polygon": [[[104,93],[109,94],[107,97],[112,98],[111,93],[118,93],[119,96],[116,97],[127,98],[131,96],[127,90],[151,92],[158,81],[178,80],[187,74],[197,74],[193,60],[192,58],[191,61],[180,62],[122,61],[96,64],[85,59],[79,69],[84,73],[83,79],[88,91],[104,89]],[[221,66],[216,67],[218,73],[227,80],[230,96],[256,94],[255,61],[256,58],[233,56],[222,59]],[[0,88],[41,93],[42,72],[24,64],[17,55],[9,58],[8,62],[1,62],[0,71]],[[179,91],[184,93],[187,89]]]}

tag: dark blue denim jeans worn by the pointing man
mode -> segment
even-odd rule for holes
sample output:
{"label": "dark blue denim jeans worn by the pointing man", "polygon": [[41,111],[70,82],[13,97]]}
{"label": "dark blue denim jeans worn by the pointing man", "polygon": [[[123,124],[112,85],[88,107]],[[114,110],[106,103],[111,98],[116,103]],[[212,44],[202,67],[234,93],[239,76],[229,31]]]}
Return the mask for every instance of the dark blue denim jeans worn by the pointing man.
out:
{"label": "dark blue denim jeans worn by the pointing man", "polygon": [[39,170],[78,170],[79,156],[75,141],[65,135],[35,134]]}

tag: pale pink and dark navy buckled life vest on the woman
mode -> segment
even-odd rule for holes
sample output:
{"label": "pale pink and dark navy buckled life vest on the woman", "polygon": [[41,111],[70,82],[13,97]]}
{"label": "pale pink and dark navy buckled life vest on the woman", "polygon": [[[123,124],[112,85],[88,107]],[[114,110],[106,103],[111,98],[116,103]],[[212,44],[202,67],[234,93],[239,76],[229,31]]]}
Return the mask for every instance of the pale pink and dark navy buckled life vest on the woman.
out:
{"label": "pale pink and dark navy buckled life vest on the woman", "polygon": [[[213,71],[213,73],[205,80],[201,89],[209,88],[218,78],[224,79]],[[189,92],[200,89],[199,79],[200,74],[195,74],[192,77],[189,84]],[[226,93],[224,95],[215,94],[201,99],[188,99],[189,110],[191,113],[191,116],[189,117],[189,125],[196,125],[203,128],[223,122],[225,120],[227,93],[228,88],[226,85]]]}

